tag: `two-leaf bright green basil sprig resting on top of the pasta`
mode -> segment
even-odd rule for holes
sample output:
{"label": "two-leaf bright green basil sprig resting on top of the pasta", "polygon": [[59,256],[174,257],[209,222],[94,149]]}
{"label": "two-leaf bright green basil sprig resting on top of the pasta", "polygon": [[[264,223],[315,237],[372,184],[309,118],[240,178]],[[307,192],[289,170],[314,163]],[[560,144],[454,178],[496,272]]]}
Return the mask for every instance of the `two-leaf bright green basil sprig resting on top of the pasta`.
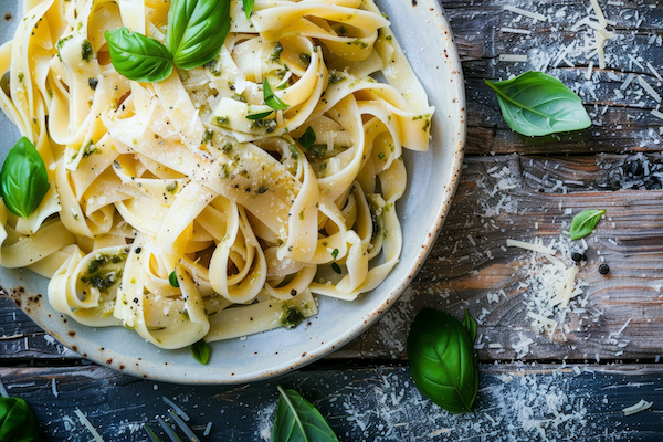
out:
{"label": "two-leaf bright green basil sprig resting on top of the pasta", "polygon": [[192,70],[213,60],[230,31],[230,1],[172,0],[168,10],[167,46],[127,28],[106,31],[110,61],[136,82],[160,82],[172,65]]}

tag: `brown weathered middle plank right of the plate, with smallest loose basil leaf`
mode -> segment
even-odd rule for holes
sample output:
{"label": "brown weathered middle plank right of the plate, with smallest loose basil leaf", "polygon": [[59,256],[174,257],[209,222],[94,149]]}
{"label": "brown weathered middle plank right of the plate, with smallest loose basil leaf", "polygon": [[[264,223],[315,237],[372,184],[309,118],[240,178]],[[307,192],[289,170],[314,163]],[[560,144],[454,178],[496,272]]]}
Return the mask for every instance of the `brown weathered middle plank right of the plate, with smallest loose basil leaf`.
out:
{"label": "brown weathered middle plank right of the plate, with smallest loose basil leaf", "polygon": [[[644,156],[515,155],[472,157],[465,165],[440,239],[410,290],[375,327],[332,357],[404,358],[406,332],[422,307],[456,317],[469,308],[481,318],[484,347],[478,355],[484,360],[653,359],[663,352],[663,192],[634,190],[659,187],[659,172],[651,170],[660,165]],[[656,180],[621,175],[645,167]],[[565,180],[582,185],[568,183],[564,194],[557,185]],[[613,187],[631,190],[606,191]],[[588,284],[581,295],[587,305],[569,313],[565,333],[558,328],[552,338],[537,336],[527,317],[529,309],[537,312],[526,302],[536,293],[536,275],[546,261],[532,267],[532,252],[505,248],[506,240],[540,236],[546,243],[557,240],[562,250],[578,246],[568,240],[569,223],[572,213],[588,208],[608,213],[587,238],[589,262],[578,276]],[[571,262],[568,252],[557,256]],[[598,273],[601,259],[610,265],[608,275]],[[514,349],[520,335],[534,340],[528,351]],[[490,349],[490,344],[503,348]]]}

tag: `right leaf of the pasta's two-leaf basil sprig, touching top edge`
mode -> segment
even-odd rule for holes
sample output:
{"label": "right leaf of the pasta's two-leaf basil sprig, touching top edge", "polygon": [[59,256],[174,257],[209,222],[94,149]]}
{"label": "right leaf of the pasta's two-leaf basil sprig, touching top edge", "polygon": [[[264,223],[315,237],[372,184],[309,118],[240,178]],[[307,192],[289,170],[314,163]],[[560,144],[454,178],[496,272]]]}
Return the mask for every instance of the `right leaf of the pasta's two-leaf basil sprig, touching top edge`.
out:
{"label": "right leaf of the pasta's two-leaf basil sprig, touching top edge", "polygon": [[214,60],[230,30],[230,1],[172,0],[167,46],[176,66],[192,70]]}

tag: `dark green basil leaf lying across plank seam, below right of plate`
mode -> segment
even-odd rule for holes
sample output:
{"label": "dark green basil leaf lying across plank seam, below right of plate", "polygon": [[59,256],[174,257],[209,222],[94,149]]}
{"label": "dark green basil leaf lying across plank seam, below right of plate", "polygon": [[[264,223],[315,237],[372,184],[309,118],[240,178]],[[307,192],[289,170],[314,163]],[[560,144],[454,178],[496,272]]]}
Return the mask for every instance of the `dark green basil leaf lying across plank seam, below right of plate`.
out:
{"label": "dark green basil leaf lying across plank seam, below right of plate", "polygon": [[408,358],[421,393],[452,413],[472,411],[478,365],[467,329],[446,313],[422,309],[408,336]]}

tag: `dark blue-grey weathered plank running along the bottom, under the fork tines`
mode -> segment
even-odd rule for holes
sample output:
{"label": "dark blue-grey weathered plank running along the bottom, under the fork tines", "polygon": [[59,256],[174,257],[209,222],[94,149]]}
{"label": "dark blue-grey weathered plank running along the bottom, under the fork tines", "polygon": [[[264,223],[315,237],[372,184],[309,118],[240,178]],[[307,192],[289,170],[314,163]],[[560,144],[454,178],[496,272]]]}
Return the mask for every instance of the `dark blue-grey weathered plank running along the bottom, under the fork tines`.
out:
{"label": "dark blue-grey weathered plank running along the bottom, under the fork tines", "polygon": [[[277,381],[176,386],[138,380],[101,367],[0,368],[11,396],[28,401],[50,441],[87,440],[81,409],[107,441],[146,441],[166,396],[191,417],[207,441],[269,440],[276,386],[294,388],[318,407],[345,441],[660,441],[661,366],[481,366],[473,413],[452,415],[421,397],[406,367],[308,369]],[[55,389],[53,389],[55,382]],[[55,391],[55,394],[54,392]],[[653,407],[624,417],[641,399]],[[164,439],[165,440],[165,439]]]}

